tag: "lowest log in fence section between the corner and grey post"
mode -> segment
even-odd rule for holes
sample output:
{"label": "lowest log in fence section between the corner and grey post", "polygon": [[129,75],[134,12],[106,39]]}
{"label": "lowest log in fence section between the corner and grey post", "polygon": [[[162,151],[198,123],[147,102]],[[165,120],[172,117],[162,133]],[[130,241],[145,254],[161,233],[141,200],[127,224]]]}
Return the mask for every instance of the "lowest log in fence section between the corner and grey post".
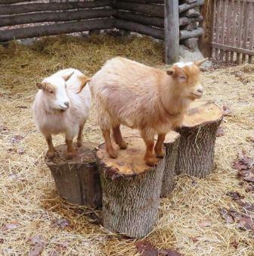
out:
{"label": "lowest log in fence section between the corner and grey post", "polygon": [[116,20],[115,26],[120,30],[129,30],[147,36],[152,36],[156,39],[164,39],[163,30],[157,29],[156,27],[148,27],[128,20]]}

